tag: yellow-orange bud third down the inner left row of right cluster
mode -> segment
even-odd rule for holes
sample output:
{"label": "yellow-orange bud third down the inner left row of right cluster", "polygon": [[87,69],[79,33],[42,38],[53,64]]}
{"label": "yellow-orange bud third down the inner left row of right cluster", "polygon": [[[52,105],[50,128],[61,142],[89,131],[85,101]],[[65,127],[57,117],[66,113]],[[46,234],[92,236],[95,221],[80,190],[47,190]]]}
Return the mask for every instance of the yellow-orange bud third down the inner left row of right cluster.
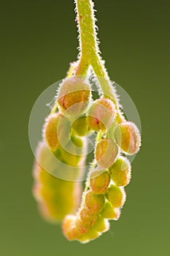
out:
{"label": "yellow-orange bud third down the inner left row of right cluster", "polygon": [[90,173],[90,187],[96,195],[105,194],[109,182],[110,176],[107,170],[93,170]]}

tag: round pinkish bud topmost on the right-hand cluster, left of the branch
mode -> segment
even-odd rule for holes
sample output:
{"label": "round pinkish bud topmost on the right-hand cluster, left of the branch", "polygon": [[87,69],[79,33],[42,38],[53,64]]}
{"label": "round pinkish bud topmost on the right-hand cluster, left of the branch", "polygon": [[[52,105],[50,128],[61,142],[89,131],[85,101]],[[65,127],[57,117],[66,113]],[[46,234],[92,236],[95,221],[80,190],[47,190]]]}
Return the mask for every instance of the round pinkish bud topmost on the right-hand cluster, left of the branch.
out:
{"label": "round pinkish bud topmost on the right-hand cluster, left of the branch", "polygon": [[95,131],[105,131],[115,118],[115,105],[107,98],[96,99],[88,110],[88,125]]}

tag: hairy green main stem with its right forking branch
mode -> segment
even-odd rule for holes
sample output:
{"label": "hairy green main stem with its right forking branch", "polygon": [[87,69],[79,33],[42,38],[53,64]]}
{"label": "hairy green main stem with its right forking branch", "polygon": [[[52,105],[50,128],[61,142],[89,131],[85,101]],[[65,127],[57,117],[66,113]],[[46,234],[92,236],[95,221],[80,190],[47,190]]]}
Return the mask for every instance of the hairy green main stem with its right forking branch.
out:
{"label": "hairy green main stem with its right forking branch", "polygon": [[[91,66],[98,78],[104,97],[106,96],[112,99],[115,103],[117,113],[119,113],[119,104],[115,89],[109,80],[107,70],[104,67],[104,61],[101,60],[101,56],[99,55],[93,1],[75,0],[75,3],[77,26],[80,34],[80,59],[75,70],[75,75],[87,75],[88,68]],[[118,116],[120,117],[120,113]]]}

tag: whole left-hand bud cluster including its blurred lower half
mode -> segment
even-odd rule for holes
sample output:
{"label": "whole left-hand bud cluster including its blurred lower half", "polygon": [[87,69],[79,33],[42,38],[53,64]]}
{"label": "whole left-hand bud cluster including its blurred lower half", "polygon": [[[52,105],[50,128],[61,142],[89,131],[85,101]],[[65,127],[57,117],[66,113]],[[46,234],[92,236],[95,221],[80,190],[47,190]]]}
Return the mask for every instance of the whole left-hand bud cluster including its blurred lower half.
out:
{"label": "whole left-hand bud cluster including its blurred lower half", "polygon": [[[63,165],[79,167],[82,165],[82,151],[85,149],[80,136],[86,133],[82,115],[90,100],[90,86],[81,78],[66,78],[58,91],[58,111],[50,113],[45,120],[43,141],[36,150],[34,165],[34,197],[45,219],[58,222],[77,211],[80,204],[82,184],[64,181],[48,173],[42,167],[42,158],[51,161],[51,151],[59,160],[58,169]],[[76,106],[76,107],[75,107]],[[76,121],[72,122],[75,117]],[[80,123],[82,129],[80,129]],[[84,130],[83,130],[84,129]],[[88,131],[87,131],[88,132]],[[47,150],[47,149],[50,149]],[[72,170],[71,170],[72,171]]]}

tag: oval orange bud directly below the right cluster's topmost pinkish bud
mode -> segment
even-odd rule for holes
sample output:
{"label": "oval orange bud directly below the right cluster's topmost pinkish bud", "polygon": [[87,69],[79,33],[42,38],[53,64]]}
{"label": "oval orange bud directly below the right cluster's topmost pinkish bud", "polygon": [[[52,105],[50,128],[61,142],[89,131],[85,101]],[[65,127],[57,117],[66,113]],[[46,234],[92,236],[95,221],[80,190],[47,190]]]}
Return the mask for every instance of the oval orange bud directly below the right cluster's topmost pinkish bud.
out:
{"label": "oval orange bud directly below the right cluster's topmost pinkish bud", "polygon": [[108,168],[115,162],[119,149],[116,143],[110,139],[104,139],[96,145],[96,161],[100,167]]}

